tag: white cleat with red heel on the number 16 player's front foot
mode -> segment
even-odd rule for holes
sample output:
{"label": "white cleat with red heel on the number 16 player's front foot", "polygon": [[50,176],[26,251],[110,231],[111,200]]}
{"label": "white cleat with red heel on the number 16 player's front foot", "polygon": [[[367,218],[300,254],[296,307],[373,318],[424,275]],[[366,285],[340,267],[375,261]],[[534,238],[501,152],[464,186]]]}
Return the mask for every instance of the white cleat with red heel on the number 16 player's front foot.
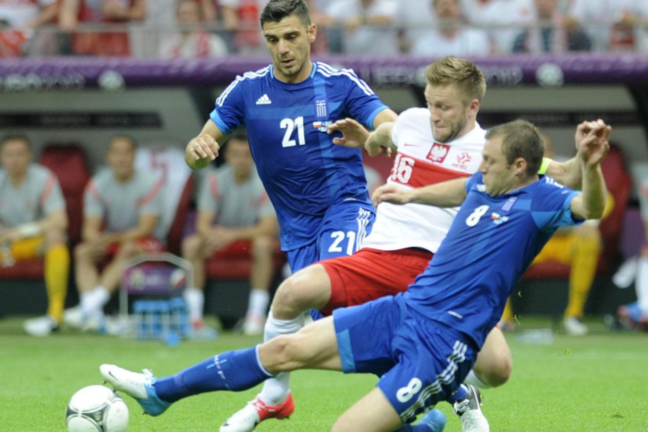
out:
{"label": "white cleat with red heel on the number 16 player's front foot", "polygon": [[257,424],[269,418],[282,420],[290,417],[295,411],[295,402],[292,394],[279,405],[266,405],[259,396],[248,402],[246,406],[232,414],[218,429],[220,432],[250,432]]}

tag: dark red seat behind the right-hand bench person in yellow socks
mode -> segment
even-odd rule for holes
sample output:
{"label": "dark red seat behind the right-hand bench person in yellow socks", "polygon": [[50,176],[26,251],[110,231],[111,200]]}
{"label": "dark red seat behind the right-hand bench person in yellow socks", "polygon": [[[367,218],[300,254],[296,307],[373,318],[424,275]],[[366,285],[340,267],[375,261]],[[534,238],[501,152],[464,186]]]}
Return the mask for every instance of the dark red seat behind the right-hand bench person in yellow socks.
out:
{"label": "dark red seat behind the right-hand bench person in yellow socks", "polygon": [[[612,145],[601,163],[605,184],[614,197],[614,209],[601,221],[599,230],[603,238],[603,253],[599,258],[597,271],[609,272],[619,248],[621,224],[632,193],[632,178],[625,168],[621,149]],[[568,279],[571,267],[557,261],[533,264],[524,274],[524,279]]]}

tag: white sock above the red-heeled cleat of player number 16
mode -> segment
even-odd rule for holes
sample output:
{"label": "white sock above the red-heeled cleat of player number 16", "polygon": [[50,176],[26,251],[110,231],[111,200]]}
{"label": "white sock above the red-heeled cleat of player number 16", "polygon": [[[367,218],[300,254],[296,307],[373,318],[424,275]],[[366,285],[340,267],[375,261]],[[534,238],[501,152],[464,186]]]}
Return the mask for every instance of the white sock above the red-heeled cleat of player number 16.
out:
{"label": "white sock above the red-heeled cleat of player number 16", "polygon": [[[270,341],[279,335],[287,335],[295,333],[304,326],[304,315],[292,320],[278,320],[272,316],[272,312],[268,315],[266,321],[266,328],[263,333],[264,342]],[[290,393],[290,372],[282,372],[277,374],[275,378],[266,379],[263,383],[263,389],[260,393],[260,399],[266,405],[277,405],[284,402]]]}

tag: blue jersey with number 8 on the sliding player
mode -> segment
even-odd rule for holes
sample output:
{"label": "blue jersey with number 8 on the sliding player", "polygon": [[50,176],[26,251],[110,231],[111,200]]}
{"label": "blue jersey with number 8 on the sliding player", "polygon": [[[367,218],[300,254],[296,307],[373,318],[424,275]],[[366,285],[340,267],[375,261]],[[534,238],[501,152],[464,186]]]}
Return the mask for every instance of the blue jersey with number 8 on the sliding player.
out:
{"label": "blue jersey with number 8 on the sliding player", "polygon": [[573,225],[578,193],[553,178],[491,197],[481,173],[428,268],[404,294],[417,315],[465,333],[479,347],[502,316],[506,299],[559,226]]}

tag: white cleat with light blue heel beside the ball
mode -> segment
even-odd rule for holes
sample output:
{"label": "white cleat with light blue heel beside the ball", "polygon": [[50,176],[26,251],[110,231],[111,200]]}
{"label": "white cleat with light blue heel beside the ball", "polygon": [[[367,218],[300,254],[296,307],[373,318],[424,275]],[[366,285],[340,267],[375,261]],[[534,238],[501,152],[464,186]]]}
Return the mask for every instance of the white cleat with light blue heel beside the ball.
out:
{"label": "white cleat with light blue heel beside the ball", "polygon": [[159,416],[167,411],[170,402],[165,402],[157,397],[156,389],[153,387],[157,378],[153,373],[145,369],[143,373],[131,372],[115,365],[101,365],[99,372],[113,389],[128,394],[141,405],[146,414]]}

